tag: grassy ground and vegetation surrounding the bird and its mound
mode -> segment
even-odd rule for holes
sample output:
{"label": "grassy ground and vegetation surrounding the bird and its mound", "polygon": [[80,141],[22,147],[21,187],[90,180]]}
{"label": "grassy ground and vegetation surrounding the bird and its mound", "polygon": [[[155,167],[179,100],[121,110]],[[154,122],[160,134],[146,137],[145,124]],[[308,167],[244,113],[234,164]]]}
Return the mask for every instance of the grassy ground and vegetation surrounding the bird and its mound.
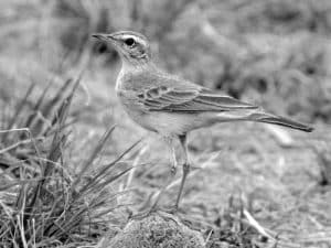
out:
{"label": "grassy ground and vegetation surrounding the bird and its mound", "polygon": [[191,133],[181,220],[212,248],[330,246],[328,0],[130,2],[0,3],[0,244],[99,247],[167,181],[166,144],[116,100],[117,54],[89,40],[130,29],[167,71],[316,127]]}

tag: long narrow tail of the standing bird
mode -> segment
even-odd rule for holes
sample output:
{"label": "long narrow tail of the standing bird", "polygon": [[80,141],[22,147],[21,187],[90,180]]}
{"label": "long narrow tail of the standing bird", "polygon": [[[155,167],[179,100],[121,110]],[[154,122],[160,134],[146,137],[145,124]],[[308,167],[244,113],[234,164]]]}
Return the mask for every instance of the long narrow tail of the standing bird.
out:
{"label": "long narrow tail of the standing bird", "polygon": [[264,122],[264,123],[273,123],[273,125],[279,125],[306,132],[311,132],[313,130],[312,127],[309,127],[307,125],[300,123],[298,121],[291,120],[286,117],[276,116],[273,114],[264,112],[264,111],[257,111],[249,115],[248,120],[257,121],[257,122]]}

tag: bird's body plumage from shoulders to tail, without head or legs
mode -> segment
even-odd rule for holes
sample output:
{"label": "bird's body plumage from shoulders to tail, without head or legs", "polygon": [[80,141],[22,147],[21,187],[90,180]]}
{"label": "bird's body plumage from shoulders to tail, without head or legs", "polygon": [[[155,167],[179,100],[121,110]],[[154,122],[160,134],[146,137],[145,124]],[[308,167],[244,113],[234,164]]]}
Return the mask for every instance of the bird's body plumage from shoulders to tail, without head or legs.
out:
{"label": "bird's body plumage from shoulders to tail, without head or legs", "polygon": [[[232,120],[269,122],[311,131],[310,127],[267,114],[258,106],[158,69],[125,73],[118,77],[117,85],[118,97],[129,116],[142,127],[163,136],[185,134],[193,129]],[[169,125],[171,128],[167,128]]]}

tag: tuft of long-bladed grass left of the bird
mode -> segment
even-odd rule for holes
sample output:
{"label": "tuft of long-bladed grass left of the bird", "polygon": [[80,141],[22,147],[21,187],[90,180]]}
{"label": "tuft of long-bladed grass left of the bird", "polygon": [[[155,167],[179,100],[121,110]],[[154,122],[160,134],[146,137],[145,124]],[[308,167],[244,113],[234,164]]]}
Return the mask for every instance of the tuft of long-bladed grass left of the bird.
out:
{"label": "tuft of long-bladed grass left of the bird", "polygon": [[[29,109],[32,115],[25,116],[32,85],[15,106],[13,116],[3,123],[7,126],[1,131],[1,143],[6,148],[0,151],[3,168],[0,242],[3,247],[71,247],[72,244],[96,242],[109,223],[114,223],[109,220],[110,215],[125,206],[117,198],[128,191],[110,187],[132,169],[121,159],[138,142],[93,170],[115,127],[108,129],[89,157],[76,165],[78,173],[72,174],[73,164],[66,150],[74,121],[70,120],[68,111],[79,80],[66,82],[49,100],[44,100],[47,88],[44,89]],[[64,89],[68,91],[66,96],[63,96]],[[38,116],[45,118],[36,119]],[[52,119],[50,123],[46,117]],[[115,170],[118,163],[122,169]]]}

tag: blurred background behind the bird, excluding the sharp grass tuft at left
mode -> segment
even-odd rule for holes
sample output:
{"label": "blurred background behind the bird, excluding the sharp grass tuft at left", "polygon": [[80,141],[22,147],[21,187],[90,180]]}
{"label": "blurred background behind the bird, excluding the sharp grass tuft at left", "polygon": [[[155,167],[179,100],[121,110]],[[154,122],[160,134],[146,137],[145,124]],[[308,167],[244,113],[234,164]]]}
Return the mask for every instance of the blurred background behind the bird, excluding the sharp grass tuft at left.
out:
{"label": "blurred background behind the bird, excluding the sharp grass tuft at left", "polygon": [[[164,142],[132,123],[117,103],[118,54],[90,36],[119,30],[149,37],[156,62],[170,73],[316,127],[311,134],[257,123],[193,132],[190,153],[196,173],[188,180],[183,198],[183,212],[192,223],[232,230],[222,216],[239,197],[264,226],[288,240],[330,245],[331,2],[0,2],[1,129],[24,128],[29,121],[13,117],[38,112],[39,120],[29,127],[39,137],[54,121],[50,112],[56,99],[81,76],[70,112],[74,125],[67,157],[73,164],[86,159],[85,152],[114,123],[117,128],[100,161],[143,138],[139,160],[148,165],[130,179],[138,187],[131,198],[143,204],[167,181],[170,162],[160,152]],[[41,95],[51,104],[36,111],[33,106]],[[20,99],[25,99],[23,107]],[[2,139],[2,160],[18,157],[6,149],[20,139]],[[175,192],[177,186],[169,188],[161,205],[171,205]],[[322,236],[309,236],[316,233]],[[221,247],[215,244],[225,236],[215,231],[210,247]]]}

